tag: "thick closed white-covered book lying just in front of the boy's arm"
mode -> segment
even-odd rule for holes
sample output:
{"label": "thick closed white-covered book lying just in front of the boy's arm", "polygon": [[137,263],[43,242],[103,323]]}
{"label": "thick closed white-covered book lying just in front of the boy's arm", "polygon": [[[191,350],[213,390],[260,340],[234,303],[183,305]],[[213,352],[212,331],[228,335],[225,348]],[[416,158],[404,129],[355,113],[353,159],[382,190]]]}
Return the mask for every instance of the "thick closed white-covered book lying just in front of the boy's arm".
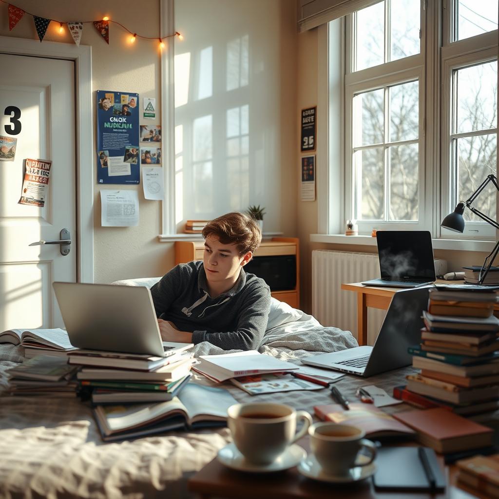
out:
{"label": "thick closed white-covered book lying just in front of the boy's arm", "polygon": [[201,355],[200,362],[193,366],[194,371],[218,383],[249,374],[296,371],[298,369],[299,366],[296,364],[261,354],[256,350],[222,355]]}

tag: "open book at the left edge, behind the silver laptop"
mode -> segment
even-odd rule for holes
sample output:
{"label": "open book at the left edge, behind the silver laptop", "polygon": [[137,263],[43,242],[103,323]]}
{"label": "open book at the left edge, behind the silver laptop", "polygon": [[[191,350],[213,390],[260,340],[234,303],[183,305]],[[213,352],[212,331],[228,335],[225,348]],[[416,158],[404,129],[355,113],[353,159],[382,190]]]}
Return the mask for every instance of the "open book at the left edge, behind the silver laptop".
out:
{"label": "open book at the left edge, behind the silver laptop", "polygon": [[[39,349],[69,352],[77,350],[71,345],[64,329],[9,329],[0,333],[0,343],[29,346]],[[42,352],[40,352],[42,353]]]}

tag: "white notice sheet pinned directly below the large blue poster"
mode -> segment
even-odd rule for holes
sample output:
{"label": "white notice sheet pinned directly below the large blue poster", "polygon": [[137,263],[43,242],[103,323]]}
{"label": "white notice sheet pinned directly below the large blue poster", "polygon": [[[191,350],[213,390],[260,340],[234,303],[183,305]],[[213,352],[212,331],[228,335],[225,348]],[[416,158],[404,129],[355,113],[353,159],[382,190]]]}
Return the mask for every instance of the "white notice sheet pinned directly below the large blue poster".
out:
{"label": "white notice sheet pinned directly below the large blue poster", "polygon": [[136,227],[139,225],[137,191],[100,191],[102,227]]}

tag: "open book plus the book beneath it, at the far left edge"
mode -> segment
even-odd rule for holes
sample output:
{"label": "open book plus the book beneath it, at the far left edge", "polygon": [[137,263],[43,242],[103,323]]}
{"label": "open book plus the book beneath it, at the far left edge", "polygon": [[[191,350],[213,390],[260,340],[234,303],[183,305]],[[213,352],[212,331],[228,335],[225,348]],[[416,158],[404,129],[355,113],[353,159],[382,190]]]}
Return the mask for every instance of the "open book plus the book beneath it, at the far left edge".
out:
{"label": "open book plus the book beneath it, at the far left edge", "polygon": [[24,347],[24,357],[30,359],[36,355],[54,355],[63,357],[77,350],[71,345],[64,329],[9,329],[0,333],[0,343],[11,343]]}

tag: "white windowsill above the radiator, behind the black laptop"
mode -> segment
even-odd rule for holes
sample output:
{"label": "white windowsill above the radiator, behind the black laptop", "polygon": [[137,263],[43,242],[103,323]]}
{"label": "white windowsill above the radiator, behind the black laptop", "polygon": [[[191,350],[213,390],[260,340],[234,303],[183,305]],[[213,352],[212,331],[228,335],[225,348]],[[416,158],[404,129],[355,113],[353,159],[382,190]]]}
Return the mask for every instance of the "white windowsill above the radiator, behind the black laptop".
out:
{"label": "white windowsill above the radiator, behind the black laptop", "polygon": [[[371,236],[345,236],[344,234],[310,234],[310,242],[376,246],[376,238]],[[432,239],[434,250],[492,251],[495,244],[495,241],[476,241],[470,239]]]}

